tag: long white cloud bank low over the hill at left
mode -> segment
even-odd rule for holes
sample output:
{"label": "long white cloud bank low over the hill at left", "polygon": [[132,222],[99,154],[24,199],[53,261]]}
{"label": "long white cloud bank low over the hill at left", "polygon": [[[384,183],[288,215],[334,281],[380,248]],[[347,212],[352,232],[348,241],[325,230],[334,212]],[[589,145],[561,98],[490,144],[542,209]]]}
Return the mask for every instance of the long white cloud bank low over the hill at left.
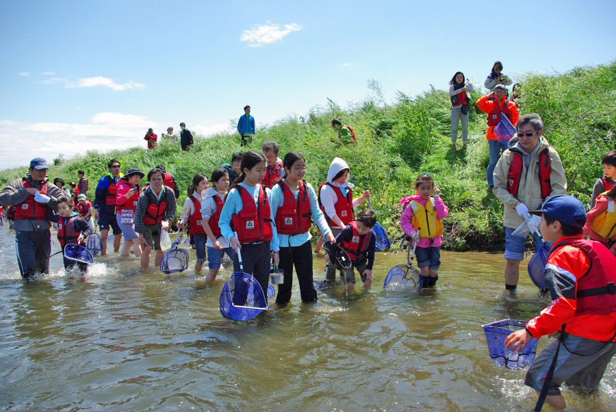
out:
{"label": "long white cloud bank low over the hill at left", "polygon": [[[64,157],[68,159],[88,150],[110,151],[134,146],[145,147],[143,136],[149,127],[161,136],[162,131],[175,123],[177,122],[154,121],[147,116],[115,112],[95,114],[88,124],[0,120],[0,169],[24,166],[39,156],[52,162],[60,153],[64,153]],[[190,127],[189,123],[188,129],[201,136],[222,131],[231,132],[227,124],[197,124]]]}

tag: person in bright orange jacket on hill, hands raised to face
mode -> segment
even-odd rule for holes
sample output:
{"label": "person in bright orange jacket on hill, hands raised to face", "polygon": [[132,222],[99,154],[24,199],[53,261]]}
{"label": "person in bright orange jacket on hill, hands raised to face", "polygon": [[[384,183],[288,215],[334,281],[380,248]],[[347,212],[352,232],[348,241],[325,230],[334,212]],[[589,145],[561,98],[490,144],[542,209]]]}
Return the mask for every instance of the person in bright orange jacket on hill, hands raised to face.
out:
{"label": "person in bright orange jacket on hill, hands raised to face", "polygon": [[500,116],[506,116],[511,124],[515,126],[519,114],[517,113],[517,106],[512,101],[507,101],[506,88],[499,84],[494,88],[494,91],[486,96],[481,96],[477,101],[477,107],[482,112],[488,114],[488,129],[485,134],[485,138],[488,140],[490,147],[490,162],[487,170],[487,181],[490,190],[494,187],[493,172],[496,167],[496,162],[500,157],[500,151],[507,150],[507,143],[509,140],[501,142],[496,138],[494,134],[494,127],[500,123]]}

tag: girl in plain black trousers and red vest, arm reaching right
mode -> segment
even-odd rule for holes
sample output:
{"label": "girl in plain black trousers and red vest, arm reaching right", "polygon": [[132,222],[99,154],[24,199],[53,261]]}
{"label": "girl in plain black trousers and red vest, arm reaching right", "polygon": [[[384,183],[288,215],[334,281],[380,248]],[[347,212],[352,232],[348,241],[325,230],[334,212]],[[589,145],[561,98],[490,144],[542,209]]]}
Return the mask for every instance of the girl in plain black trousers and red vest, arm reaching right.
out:
{"label": "girl in plain black trousers and red vest, arm reaching right", "polygon": [[311,234],[308,229],[312,220],[323,237],[335,242],[331,229],[319,208],[316,192],[303,180],[306,161],[300,153],[289,152],[283,159],[285,178],[272,188],[272,216],[280,244],[280,268],[285,281],[278,285],[276,302],[285,305],[291,300],[293,265],[304,302],[317,300],[312,278]]}

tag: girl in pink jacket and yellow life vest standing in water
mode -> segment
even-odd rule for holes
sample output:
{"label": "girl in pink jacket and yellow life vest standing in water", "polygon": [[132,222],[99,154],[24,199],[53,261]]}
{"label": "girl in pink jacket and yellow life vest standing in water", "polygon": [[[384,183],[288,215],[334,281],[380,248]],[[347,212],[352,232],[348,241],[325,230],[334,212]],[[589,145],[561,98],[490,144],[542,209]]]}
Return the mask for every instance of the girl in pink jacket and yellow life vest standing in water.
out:
{"label": "girl in pink jacket and yellow life vest standing in water", "polygon": [[[440,197],[441,190],[434,187],[434,181],[428,173],[418,176],[415,190],[417,194],[400,201],[406,207],[400,218],[400,227],[418,242],[415,250],[417,266],[422,272],[424,287],[429,287],[436,285],[439,280],[442,220],[449,214],[449,209]],[[431,197],[433,190],[434,197]]]}

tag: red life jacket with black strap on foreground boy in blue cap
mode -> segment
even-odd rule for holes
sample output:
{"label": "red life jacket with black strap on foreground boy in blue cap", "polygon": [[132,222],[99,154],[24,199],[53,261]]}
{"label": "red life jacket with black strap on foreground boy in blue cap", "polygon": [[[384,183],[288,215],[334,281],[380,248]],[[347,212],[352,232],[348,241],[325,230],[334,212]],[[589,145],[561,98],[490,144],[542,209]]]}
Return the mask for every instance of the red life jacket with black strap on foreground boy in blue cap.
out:
{"label": "red life jacket with black strap on foreground boy in blue cap", "polygon": [[567,244],[580,248],[590,258],[588,272],[576,282],[574,316],[616,312],[616,257],[601,242],[582,239],[563,240],[552,247],[550,255]]}

